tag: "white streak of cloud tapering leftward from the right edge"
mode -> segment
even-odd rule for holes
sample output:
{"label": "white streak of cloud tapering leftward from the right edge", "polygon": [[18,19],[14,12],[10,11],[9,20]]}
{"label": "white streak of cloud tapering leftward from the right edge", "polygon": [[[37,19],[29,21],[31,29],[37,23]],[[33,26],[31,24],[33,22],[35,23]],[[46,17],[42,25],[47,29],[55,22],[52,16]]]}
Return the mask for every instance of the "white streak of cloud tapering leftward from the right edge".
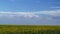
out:
{"label": "white streak of cloud tapering leftward from the right edge", "polygon": [[39,11],[34,12],[36,14],[46,14],[46,15],[52,15],[52,16],[60,16],[60,10],[52,10],[52,11]]}

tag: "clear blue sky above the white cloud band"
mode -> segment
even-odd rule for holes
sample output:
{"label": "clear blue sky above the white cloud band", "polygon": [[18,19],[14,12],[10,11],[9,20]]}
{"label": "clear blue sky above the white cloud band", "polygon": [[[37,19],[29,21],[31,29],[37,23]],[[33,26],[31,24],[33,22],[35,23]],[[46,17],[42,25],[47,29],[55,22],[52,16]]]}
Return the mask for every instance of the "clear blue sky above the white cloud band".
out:
{"label": "clear blue sky above the white cloud band", "polygon": [[0,0],[0,11],[41,11],[60,9],[55,7],[60,7],[60,0]]}

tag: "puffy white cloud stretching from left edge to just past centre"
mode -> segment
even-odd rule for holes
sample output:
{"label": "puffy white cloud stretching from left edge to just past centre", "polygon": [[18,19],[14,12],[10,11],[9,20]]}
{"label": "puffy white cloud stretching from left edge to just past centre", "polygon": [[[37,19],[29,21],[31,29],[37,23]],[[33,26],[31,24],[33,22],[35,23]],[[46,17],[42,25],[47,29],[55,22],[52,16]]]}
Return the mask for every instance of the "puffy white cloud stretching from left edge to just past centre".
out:
{"label": "puffy white cloud stretching from left edge to just past centre", "polygon": [[19,17],[39,17],[38,15],[31,13],[31,12],[0,12],[0,17],[1,16],[5,16],[5,17],[15,17],[15,16],[19,16]]}

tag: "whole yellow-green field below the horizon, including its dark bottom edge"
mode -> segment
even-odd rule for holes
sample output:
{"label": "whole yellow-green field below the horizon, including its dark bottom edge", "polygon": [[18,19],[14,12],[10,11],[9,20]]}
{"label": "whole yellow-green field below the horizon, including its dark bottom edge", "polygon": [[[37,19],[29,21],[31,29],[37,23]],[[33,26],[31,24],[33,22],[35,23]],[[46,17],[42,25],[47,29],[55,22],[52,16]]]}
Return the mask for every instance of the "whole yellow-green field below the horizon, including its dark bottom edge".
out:
{"label": "whole yellow-green field below the horizon, including its dark bottom edge", "polygon": [[0,25],[0,34],[60,34],[60,26]]}

